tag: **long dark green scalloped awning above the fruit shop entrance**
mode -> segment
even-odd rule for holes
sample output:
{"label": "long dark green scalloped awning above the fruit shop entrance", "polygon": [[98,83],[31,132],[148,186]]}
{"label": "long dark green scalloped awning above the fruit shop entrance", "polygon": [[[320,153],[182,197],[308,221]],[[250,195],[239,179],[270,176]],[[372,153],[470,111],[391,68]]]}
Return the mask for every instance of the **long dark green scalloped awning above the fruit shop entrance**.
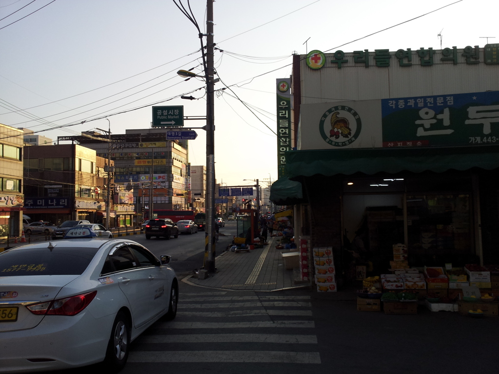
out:
{"label": "long dark green scalloped awning above the fruit shop entrance", "polygon": [[286,171],[289,179],[316,174],[334,176],[380,172],[395,174],[402,171],[421,173],[447,170],[499,168],[498,146],[446,148],[376,148],[289,151]]}

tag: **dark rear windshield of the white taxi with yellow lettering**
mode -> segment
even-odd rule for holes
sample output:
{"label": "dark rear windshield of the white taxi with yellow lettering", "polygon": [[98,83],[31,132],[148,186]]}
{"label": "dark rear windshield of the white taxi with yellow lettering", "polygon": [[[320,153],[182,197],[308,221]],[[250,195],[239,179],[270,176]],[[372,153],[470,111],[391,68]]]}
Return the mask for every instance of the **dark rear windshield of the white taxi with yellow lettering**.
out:
{"label": "dark rear windshield of the white taxi with yellow lettering", "polygon": [[0,254],[0,278],[19,275],[80,275],[98,248],[24,248]]}

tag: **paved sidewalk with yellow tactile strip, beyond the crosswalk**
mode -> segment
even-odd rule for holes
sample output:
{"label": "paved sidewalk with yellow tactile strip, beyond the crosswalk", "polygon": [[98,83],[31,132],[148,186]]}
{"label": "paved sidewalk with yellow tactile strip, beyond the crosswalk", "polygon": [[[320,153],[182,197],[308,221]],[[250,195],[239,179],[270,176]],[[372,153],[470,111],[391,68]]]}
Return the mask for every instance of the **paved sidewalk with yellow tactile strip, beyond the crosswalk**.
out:
{"label": "paved sidewalk with yellow tactile strip, beyond the crosswalk", "polygon": [[277,291],[289,288],[309,288],[301,281],[297,269],[286,270],[281,250],[276,249],[273,237],[263,248],[250,252],[226,251],[215,259],[217,272],[207,279],[189,276],[183,282],[193,286],[222,290]]}

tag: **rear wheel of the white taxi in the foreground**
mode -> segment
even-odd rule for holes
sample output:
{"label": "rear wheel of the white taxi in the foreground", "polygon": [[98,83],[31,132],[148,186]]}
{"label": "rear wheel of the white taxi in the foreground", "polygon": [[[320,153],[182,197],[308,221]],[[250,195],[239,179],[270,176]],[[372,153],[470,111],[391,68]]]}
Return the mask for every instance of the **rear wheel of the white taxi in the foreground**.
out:
{"label": "rear wheel of the white taxi in the foreground", "polygon": [[130,344],[130,321],[123,312],[118,312],[114,319],[111,337],[107,344],[104,366],[111,372],[119,372],[128,360]]}

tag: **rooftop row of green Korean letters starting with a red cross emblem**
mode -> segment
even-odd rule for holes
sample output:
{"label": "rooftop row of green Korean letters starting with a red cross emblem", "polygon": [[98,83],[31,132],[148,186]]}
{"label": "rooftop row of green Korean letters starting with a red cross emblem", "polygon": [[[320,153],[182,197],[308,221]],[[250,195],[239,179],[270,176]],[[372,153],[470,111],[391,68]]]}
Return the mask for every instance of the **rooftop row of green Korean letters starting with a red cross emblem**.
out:
{"label": "rooftop row of green Korean letters starting with a red cross emblem", "polygon": [[[438,51],[438,60],[437,60]],[[359,66],[365,67],[389,67],[391,64],[398,64],[399,66],[432,66],[435,63],[466,63],[469,65],[479,64],[499,64],[498,59],[499,44],[486,44],[484,47],[483,55],[480,54],[480,46],[468,45],[462,50],[458,51],[457,47],[444,48],[442,50],[434,50],[433,48],[424,48],[412,50],[398,49],[396,52],[390,52],[389,49],[375,49],[369,52],[368,49],[353,51],[352,56],[345,56],[345,52],[337,50],[332,54],[325,55],[319,50],[310,51],[305,62],[312,70],[318,70],[324,66],[335,66],[341,69],[345,66]],[[371,57],[371,58],[369,58]]]}

